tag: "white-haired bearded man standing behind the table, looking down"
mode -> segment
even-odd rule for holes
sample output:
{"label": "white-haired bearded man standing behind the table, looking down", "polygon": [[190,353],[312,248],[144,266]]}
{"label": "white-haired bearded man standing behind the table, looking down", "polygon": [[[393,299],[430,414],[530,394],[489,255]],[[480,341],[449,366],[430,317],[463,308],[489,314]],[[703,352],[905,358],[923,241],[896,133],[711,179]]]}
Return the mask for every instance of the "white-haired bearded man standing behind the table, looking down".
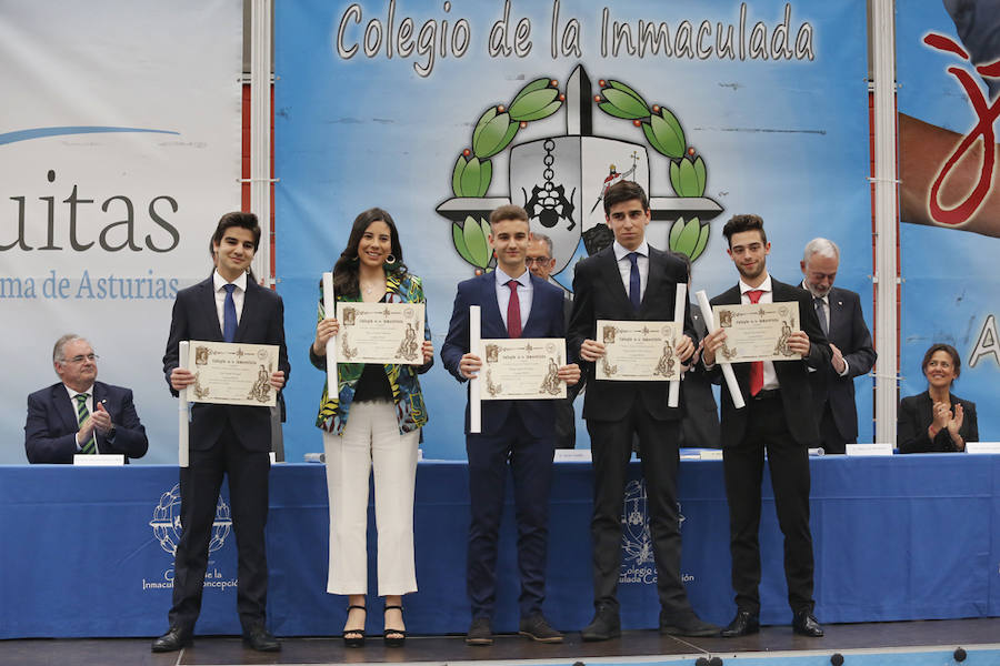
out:
{"label": "white-haired bearded man standing behind the table, looking down", "polygon": [[876,351],[871,333],[861,315],[861,299],[833,286],[840,265],[840,249],[827,239],[812,239],[799,266],[802,286],[812,294],[820,326],[830,341],[830,364],[810,373],[820,424],[820,442],[826,453],[844,453],[858,441],[858,408],[854,377],[871,371]]}

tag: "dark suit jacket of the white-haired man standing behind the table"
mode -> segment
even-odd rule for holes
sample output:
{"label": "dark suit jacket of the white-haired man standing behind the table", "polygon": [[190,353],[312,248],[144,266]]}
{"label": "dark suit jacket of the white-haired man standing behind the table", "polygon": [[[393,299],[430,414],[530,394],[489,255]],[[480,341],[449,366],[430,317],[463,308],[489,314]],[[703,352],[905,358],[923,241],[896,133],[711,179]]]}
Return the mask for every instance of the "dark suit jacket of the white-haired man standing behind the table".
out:
{"label": "dark suit jacket of the white-haired man standing behind the table", "polygon": [[846,289],[832,287],[827,300],[830,303],[830,327],[827,337],[837,345],[848,363],[848,374],[840,376],[833,365],[809,373],[812,396],[818,413],[829,401],[833,423],[846,442],[858,438],[858,407],[854,403],[854,377],[868,374],[878,357],[871,344],[871,333],[861,314],[861,297]]}

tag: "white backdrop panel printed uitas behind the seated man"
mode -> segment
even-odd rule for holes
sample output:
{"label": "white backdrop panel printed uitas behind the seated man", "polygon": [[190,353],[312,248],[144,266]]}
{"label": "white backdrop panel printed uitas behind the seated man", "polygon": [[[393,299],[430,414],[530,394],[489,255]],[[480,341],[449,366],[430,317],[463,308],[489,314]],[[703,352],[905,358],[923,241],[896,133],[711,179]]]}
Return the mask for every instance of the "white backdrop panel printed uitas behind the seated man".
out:
{"label": "white backdrop panel printed uitas behind the seated man", "polygon": [[0,2],[0,463],[27,462],[26,396],[52,345],[90,339],[177,461],[161,359],[178,290],[239,209],[242,2]]}

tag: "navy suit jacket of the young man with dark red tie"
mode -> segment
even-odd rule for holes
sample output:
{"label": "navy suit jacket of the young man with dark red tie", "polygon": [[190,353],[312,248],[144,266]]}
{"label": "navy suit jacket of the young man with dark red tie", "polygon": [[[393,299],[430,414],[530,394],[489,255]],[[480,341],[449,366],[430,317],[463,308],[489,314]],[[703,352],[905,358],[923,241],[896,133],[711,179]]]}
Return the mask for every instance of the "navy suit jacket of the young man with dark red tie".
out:
{"label": "navy suit jacket of the young man with dark red tie", "polygon": [[[531,275],[531,312],[521,327],[521,337],[564,337],[566,324],[563,314],[562,290]],[[471,280],[460,282],[454,295],[454,307],[451,311],[451,323],[448,336],[441,345],[441,360],[444,367],[460,382],[466,382],[459,371],[462,355],[469,353],[469,306],[479,305],[481,310],[481,335],[483,339],[508,337],[507,326],[500,314],[497,302],[497,276],[483,273]],[[564,363],[569,363],[567,360]],[[554,436],[556,401],[551,400],[491,400],[482,402],[482,434],[494,435],[503,430],[504,422],[517,403],[518,414],[524,427],[536,437]],[[466,434],[469,434],[469,405],[466,403]]]}

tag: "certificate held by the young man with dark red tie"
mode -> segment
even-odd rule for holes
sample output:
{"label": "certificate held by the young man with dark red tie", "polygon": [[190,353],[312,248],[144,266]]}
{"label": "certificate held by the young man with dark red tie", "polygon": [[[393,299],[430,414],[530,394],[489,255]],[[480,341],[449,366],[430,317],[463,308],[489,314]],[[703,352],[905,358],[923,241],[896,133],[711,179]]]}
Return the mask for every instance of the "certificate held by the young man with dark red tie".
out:
{"label": "certificate held by the young man with dark red tie", "polygon": [[556,400],[566,397],[559,366],[566,365],[562,337],[482,340],[481,400]]}

